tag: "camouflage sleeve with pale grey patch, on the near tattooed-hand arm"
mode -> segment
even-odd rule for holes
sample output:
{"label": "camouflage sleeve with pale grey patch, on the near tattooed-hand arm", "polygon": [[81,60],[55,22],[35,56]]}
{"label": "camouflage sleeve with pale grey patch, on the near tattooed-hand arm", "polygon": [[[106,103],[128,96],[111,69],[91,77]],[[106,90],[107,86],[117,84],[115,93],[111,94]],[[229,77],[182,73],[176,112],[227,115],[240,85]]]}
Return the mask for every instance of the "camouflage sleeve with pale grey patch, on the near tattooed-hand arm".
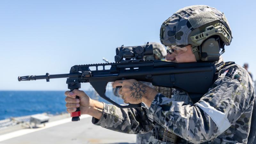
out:
{"label": "camouflage sleeve with pale grey patch, on the near tattooed-hand arm", "polygon": [[241,71],[240,79],[220,74],[194,106],[158,93],[148,109],[149,119],[193,143],[216,138],[236,123],[254,100],[252,81]]}

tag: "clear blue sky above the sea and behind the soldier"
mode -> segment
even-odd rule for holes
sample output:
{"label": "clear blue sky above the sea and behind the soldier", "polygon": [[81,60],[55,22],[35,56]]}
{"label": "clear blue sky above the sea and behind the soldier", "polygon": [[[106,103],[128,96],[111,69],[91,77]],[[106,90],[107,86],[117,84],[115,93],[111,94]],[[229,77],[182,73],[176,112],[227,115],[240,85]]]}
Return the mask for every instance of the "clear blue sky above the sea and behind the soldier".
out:
{"label": "clear blue sky above the sea and behind the soldier", "polygon": [[[66,79],[18,76],[68,73],[76,64],[114,61],[115,48],[159,42],[174,12],[205,4],[224,12],[233,41],[225,61],[249,63],[256,77],[255,1],[0,1],[0,90],[67,90]],[[255,79],[255,78],[254,78]],[[87,89],[89,84],[82,84]]]}

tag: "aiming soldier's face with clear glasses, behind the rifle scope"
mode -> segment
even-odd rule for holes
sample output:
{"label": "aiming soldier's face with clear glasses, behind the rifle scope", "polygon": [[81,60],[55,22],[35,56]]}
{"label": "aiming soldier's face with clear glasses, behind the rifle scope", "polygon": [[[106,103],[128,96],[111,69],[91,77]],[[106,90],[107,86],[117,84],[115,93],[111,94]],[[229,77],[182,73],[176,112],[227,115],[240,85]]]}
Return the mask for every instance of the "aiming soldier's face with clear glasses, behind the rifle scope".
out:
{"label": "aiming soldier's face with clear glasses, behind the rifle scope", "polygon": [[172,54],[167,53],[167,55],[165,57],[166,60],[171,61],[171,62],[177,62],[177,63],[196,62],[196,57],[195,57],[194,53],[192,52],[191,45],[187,45],[186,48],[187,48],[187,51],[182,54],[179,54],[179,55],[175,55],[174,53],[172,53]]}

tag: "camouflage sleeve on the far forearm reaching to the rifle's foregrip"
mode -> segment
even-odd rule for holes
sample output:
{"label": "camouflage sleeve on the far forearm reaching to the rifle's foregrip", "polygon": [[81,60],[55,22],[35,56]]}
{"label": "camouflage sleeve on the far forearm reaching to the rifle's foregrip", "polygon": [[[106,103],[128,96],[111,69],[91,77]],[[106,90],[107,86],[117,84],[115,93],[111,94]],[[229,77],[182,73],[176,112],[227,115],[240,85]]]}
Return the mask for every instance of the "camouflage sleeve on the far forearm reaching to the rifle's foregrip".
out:
{"label": "camouflage sleeve on the far forearm reaching to the rifle's foregrip", "polygon": [[117,132],[140,134],[152,129],[152,122],[148,119],[148,108],[142,103],[141,108],[118,108],[104,104],[100,120],[92,118],[92,123]]}

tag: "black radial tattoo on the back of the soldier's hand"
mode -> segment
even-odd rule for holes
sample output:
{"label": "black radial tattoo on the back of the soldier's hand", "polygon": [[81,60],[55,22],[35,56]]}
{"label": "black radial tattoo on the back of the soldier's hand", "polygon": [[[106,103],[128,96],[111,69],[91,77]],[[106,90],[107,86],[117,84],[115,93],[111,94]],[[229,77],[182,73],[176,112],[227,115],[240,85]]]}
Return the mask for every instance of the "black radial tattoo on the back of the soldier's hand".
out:
{"label": "black radial tattoo on the back of the soldier's hand", "polygon": [[136,83],[134,82],[132,86],[130,86],[131,97],[133,97],[135,100],[139,100],[142,98],[142,94],[145,94],[147,92],[146,85],[142,83]]}

